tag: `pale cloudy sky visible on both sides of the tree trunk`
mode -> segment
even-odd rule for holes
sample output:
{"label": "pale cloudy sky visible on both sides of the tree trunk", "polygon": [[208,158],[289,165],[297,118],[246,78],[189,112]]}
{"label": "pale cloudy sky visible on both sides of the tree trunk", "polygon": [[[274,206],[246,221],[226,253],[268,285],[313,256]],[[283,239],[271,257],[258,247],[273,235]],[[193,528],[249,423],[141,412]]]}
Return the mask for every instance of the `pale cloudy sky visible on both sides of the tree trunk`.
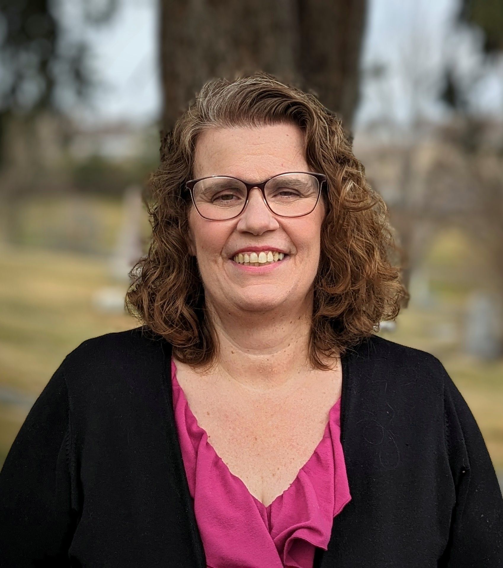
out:
{"label": "pale cloudy sky visible on both sides of the tree trunk", "polygon": [[[152,122],[160,110],[156,0],[119,4],[112,23],[87,32],[102,85],[92,108],[79,115],[90,123]],[[384,64],[386,73],[372,78],[364,72],[357,125],[383,117],[407,125],[418,115],[445,116],[446,108],[436,102],[441,62],[450,58],[468,82],[473,69],[483,67],[480,38],[452,32],[456,10],[457,0],[369,0],[362,68]],[[479,83],[473,106],[503,115],[502,61]]]}

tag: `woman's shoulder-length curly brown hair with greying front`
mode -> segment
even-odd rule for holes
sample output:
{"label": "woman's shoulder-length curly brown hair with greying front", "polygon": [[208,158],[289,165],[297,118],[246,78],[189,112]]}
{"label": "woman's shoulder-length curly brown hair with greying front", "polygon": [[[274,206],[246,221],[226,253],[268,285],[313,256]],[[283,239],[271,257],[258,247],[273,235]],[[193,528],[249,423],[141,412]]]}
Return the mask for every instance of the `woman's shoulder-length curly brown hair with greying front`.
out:
{"label": "woman's shoulder-length curly brown hair with greying front", "polygon": [[310,363],[343,354],[382,320],[397,317],[403,298],[399,256],[386,204],[365,179],[341,121],[314,94],[258,72],[234,80],[205,83],[162,141],[159,168],[151,176],[152,202],[146,203],[152,240],[146,257],[130,272],[126,308],[145,331],[163,336],[178,360],[209,367],[218,341],[205,311],[197,261],[189,253],[185,183],[192,178],[197,136],[215,127],[293,123],[304,132],[307,164],[327,176],[327,214],[314,282],[309,344]]}

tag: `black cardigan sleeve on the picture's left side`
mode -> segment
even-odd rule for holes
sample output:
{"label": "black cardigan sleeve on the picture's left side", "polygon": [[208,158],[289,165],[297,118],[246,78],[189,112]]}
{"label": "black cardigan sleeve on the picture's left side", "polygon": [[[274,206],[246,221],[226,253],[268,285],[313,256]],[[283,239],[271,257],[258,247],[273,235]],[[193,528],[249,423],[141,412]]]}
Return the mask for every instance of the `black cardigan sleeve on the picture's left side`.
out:
{"label": "black cardigan sleeve on the picture's left side", "polygon": [[71,421],[64,362],[36,399],[0,472],[0,566],[69,566]]}

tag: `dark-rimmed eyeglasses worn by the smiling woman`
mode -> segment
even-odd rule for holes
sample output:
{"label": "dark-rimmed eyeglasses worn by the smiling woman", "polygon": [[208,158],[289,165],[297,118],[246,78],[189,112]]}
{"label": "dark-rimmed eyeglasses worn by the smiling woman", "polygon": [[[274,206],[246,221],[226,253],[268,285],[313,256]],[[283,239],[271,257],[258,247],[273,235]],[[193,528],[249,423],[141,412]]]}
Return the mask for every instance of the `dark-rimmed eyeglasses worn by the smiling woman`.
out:
{"label": "dark-rimmed eyeglasses worn by the smiling woman", "polygon": [[258,187],[269,210],[280,217],[310,214],[319,201],[324,174],[286,172],[261,183],[250,183],[231,176],[191,179],[186,186],[196,211],[209,221],[234,219],[244,211],[250,190]]}

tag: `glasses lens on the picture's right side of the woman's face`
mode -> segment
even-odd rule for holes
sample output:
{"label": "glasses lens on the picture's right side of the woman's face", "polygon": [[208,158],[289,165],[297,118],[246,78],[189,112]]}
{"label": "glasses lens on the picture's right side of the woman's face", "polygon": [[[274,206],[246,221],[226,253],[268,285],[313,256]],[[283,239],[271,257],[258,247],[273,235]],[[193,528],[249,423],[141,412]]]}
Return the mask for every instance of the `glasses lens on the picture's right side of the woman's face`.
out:
{"label": "glasses lens on the picture's right side of the woman's face", "polygon": [[318,178],[310,174],[282,174],[265,187],[266,201],[278,215],[295,217],[310,213],[318,202]]}

